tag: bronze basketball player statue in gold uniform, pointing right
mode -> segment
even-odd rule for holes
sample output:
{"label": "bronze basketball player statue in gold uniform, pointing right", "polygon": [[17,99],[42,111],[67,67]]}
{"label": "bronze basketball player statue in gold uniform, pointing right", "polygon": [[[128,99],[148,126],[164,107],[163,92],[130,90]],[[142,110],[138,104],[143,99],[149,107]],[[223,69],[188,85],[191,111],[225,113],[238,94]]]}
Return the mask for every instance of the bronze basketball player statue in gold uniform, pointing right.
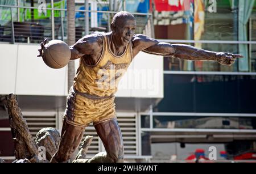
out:
{"label": "bronze basketball player statue in gold uniform, pointing right", "polygon": [[[85,127],[91,122],[106,153],[88,162],[123,162],[123,141],[115,114],[114,94],[123,73],[140,51],[183,60],[217,61],[227,66],[242,57],[239,54],[159,42],[145,35],[135,35],[135,28],[134,16],[121,11],[113,17],[112,32],[92,33],[69,47],[71,60],[80,58],[80,65],[67,97],[60,145],[51,162],[66,162],[71,158],[80,144]],[[41,43],[39,56],[42,55],[44,44],[46,42]],[[115,75],[109,78],[113,70]]]}

